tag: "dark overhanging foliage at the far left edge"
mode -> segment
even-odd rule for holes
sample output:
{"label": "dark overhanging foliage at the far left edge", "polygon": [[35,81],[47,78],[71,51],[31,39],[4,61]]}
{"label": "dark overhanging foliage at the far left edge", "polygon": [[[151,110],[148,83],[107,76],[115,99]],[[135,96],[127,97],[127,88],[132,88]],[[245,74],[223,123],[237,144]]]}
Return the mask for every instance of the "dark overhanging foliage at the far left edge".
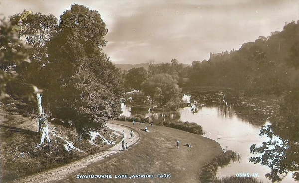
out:
{"label": "dark overhanging foliage at the far left edge", "polygon": [[0,99],[4,99],[9,97],[5,87],[13,79],[10,71],[13,71],[14,67],[23,61],[30,63],[30,60],[26,53],[29,46],[19,40],[18,33],[12,30],[11,24],[5,19],[0,21]]}

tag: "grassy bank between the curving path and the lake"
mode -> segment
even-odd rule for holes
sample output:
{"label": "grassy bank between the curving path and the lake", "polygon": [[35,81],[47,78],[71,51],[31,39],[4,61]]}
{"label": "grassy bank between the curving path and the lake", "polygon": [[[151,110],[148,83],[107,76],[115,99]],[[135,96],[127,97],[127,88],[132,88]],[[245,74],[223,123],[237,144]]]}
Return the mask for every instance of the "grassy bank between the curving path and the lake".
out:
{"label": "grassy bank between the curving path and the lake", "polygon": [[[211,139],[164,126],[149,126],[149,133],[138,130],[145,124],[110,121],[139,131],[140,142],[128,152],[119,153],[105,162],[95,163],[87,169],[70,175],[64,183],[199,183],[202,166],[222,153],[220,145]],[[180,140],[177,149],[176,141]],[[193,148],[183,146],[191,144]],[[121,155],[121,156],[120,156]],[[171,178],[136,179],[76,179],[84,174],[171,174]]]}

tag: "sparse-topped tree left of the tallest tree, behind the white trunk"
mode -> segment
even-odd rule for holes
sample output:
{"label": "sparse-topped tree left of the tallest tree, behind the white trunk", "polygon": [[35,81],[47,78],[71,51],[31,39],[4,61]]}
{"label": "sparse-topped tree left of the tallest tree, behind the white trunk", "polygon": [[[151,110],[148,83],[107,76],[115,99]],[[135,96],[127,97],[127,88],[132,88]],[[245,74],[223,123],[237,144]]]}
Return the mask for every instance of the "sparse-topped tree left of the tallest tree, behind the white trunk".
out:
{"label": "sparse-topped tree left of the tallest tree, behind the white trunk", "polygon": [[[24,10],[26,12],[26,10]],[[9,17],[12,25],[16,25],[20,19],[21,14],[16,14]],[[47,48],[46,43],[50,40],[53,33],[57,30],[57,18],[54,15],[43,15],[40,12],[28,15],[22,20],[26,26],[25,30],[20,31],[20,37],[28,45],[27,49],[31,64],[23,62],[15,68],[18,73],[18,79],[22,83],[30,83],[34,85],[42,85],[40,77],[40,70],[47,64]]]}

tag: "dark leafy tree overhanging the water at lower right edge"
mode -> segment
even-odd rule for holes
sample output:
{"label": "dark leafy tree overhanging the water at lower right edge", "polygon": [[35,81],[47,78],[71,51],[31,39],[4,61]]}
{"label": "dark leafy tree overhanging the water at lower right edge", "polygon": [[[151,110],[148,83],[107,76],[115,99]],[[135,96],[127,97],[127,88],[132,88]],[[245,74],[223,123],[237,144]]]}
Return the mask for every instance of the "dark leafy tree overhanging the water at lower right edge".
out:
{"label": "dark leafy tree overhanging the water at lower right edge", "polygon": [[[293,89],[284,97],[279,119],[271,125],[262,126],[260,136],[267,135],[271,140],[257,147],[252,144],[250,152],[262,153],[251,157],[250,162],[260,163],[271,168],[265,176],[272,182],[281,181],[288,172],[299,181],[299,89]],[[278,137],[279,140],[274,140]]]}

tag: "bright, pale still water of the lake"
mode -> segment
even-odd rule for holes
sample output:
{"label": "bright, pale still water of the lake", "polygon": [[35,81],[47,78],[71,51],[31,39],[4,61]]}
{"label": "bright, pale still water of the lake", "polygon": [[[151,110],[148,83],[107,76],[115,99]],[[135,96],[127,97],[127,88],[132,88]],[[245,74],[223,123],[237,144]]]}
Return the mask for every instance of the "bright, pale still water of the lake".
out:
{"label": "bright, pale still water of the lake", "polygon": [[[189,99],[184,96],[183,100],[189,102]],[[270,173],[270,168],[267,166],[261,166],[260,164],[254,164],[249,162],[249,158],[257,156],[250,153],[249,148],[253,143],[260,146],[263,142],[267,142],[270,139],[266,136],[259,136],[261,126],[253,125],[246,120],[242,120],[236,115],[234,106],[229,104],[230,101],[224,102],[224,105],[220,105],[216,101],[213,101],[216,105],[209,105],[200,107],[198,113],[191,113],[189,107],[180,108],[177,112],[180,114],[180,120],[185,122],[196,122],[201,125],[206,132],[204,135],[207,138],[217,141],[222,149],[232,150],[239,152],[242,157],[240,163],[231,163],[230,165],[219,169],[218,177],[226,177],[230,175],[236,175],[240,173],[250,175],[258,174],[259,179],[263,183],[271,183],[264,175]],[[227,103],[228,102],[228,103]],[[218,105],[219,104],[219,105]],[[131,108],[122,103],[122,111],[124,116],[131,115]],[[156,113],[146,112],[145,116],[157,117]],[[174,115],[168,115],[174,118]],[[270,124],[269,121],[260,122],[264,125]],[[279,138],[274,138],[280,142]],[[192,144],[191,144],[192,145]],[[281,183],[293,183],[292,173],[281,181]]]}

